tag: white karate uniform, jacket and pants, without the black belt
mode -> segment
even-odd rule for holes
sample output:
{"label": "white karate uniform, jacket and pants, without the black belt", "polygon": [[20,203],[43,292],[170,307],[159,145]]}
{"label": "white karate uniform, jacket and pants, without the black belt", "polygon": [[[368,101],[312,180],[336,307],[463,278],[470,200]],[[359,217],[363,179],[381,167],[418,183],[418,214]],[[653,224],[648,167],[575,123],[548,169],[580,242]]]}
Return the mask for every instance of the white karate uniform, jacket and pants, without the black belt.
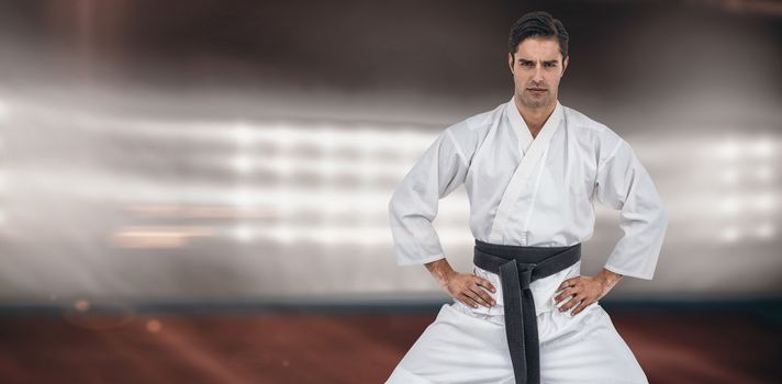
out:
{"label": "white karate uniform, jacket and pants, without the black belt", "polygon": [[[605,268],[651,279],[668,218],[646,169],[607,126],[559,102],[533,138],[514,99],[445,129],[394,191],[391,229],[401,266],[445,258],[432,222],[463,184],[470,230],[485,242],[567,247],[594,229],[592,197],[621,210],[624,237]],[[534,281],[543,383],[646,383],[635,357],[596,303],[577,316],[555,310],[555,291],[581,263]],[[491,308],[458,301],[405,354],[388,383],[513,383],[499,275]]]}

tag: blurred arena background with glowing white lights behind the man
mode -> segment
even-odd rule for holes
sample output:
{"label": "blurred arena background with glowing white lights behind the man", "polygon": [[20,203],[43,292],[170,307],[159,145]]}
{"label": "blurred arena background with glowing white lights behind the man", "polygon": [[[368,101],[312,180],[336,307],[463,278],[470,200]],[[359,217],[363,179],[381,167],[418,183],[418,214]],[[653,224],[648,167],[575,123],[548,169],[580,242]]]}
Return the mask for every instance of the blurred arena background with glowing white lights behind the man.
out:
{"label": "blurred arena background with glowing white lights behind the man", "polygon": [[[438,133],[510,100],[510,25],[539,9],[571,36],[561,103],[624,137],[669,211],[655,280],[601,301],[617,329],[652,382],[774,382],[771,0],[2,1],[0,380],[382,382],[448,301],[396,267],[388,201]],[[595,210],[585,274],[622,236]],[[461,271],[468,212],[460,189],[435,223]],[[679,354],[634,341],[661,324],[672,343],[713,334]],[[376,360],[301,362],[340,355],[292,336],[314,330],[345,364]]]}

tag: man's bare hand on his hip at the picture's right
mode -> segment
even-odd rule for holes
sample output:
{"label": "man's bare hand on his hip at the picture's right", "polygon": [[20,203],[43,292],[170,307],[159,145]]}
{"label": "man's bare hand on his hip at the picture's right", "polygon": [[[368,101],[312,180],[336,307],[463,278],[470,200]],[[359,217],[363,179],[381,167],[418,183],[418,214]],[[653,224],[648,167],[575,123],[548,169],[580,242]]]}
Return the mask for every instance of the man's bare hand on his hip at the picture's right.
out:
{"label": "man's bare hand on his hip at the picture's right", "polygon": [[554,300],[559,304],[568,298],[570,301],[559,306],[560,312],[573,309],[571,316],[576,316],[590,304],[601,300],[619,282],[622,275],[603,269],[596,276],[576,276],[562,282],[557,289],[560,292]]}

